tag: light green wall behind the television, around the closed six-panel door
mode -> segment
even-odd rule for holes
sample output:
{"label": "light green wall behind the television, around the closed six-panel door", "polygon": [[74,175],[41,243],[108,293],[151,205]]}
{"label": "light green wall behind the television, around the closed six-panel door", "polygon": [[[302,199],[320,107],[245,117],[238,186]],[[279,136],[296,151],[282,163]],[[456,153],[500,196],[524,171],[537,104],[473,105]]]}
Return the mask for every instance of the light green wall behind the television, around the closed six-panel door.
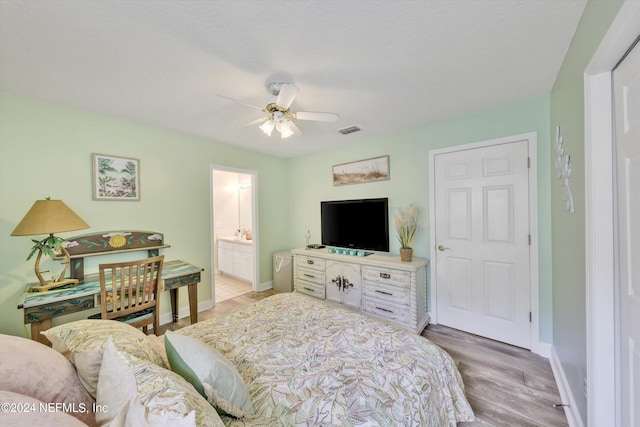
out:
{"label": "light green wall behind the television, around the closed six-panel door", "polygon": [[[538,133],[538,228],[540,279],[540,340],[552,342],[551,219],[549,201],[549,98],[543,96],[477,114],[435,123],[419,129],[369,139],[342,149],[301,156],[290,161],[290,245],[301,247],[311,230],[320,241],[320,201],[388,197],[391,214],[409,203],[420,209],[422,229],[414,254],[429,257],[429,150],[485,141],[527,132]],[[366,129],[363,131],[366,132]],[[349,136],[345,136],[349,138]],[[391,179],[334,187],[331,166],[389,155]],[[390,228],[390,230],[393,230]],[[391,231],[391,252],[399,244]]]}

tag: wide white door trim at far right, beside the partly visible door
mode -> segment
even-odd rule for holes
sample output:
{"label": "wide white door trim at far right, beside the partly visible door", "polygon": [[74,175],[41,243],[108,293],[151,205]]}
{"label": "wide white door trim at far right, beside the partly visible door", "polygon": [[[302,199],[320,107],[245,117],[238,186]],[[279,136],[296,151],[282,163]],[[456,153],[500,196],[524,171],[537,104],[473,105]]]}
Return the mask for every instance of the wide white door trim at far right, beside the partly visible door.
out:
{"label": "wide white door trim at far right, beside the partly visible door", "polygon": [[587,422],[620,425],[615,357],[613,107],[611,71],[640,34],[640,2],[627,0],[584,73]]}

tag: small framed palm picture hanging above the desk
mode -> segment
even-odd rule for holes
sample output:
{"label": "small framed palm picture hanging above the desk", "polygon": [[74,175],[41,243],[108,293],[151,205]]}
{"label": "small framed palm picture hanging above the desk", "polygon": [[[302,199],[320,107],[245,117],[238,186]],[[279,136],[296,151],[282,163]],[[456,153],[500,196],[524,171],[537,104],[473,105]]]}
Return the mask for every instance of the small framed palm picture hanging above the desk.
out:
{"label": "small framed palm picture hanging above the desk", "polygon": [[94,200],[140,200],[140,160],[93,154]]}

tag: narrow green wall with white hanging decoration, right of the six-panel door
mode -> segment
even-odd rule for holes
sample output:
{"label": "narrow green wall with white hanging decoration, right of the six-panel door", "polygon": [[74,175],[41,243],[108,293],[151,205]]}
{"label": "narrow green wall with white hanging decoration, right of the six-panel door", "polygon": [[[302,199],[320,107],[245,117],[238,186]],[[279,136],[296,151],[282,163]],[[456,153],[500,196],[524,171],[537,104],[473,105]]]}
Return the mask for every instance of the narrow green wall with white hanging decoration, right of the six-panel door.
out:
{"label": "narrow green wall with white hanging decoration, right of the six-panel door", "polygon": [[[622,3],[617,0],[588,2],[551,92],[552,132],[555,132],[556,126],[560,126],[565,152],[571,156],[573,172],[570,185],[575,203],[574,214],[564,209],[562,188],[554,178],[551,186],[553,342],[585,425],[587,356],[583,76]],[[555,161],[553,152],[550,160]]]}

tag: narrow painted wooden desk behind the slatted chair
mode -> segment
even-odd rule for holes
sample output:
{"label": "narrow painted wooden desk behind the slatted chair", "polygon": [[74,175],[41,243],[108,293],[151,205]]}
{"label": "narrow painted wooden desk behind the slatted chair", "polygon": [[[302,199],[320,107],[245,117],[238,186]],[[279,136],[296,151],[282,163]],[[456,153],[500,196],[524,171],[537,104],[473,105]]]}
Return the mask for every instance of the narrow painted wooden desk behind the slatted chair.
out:
{"label": "narrow painted wooden desk behind the slatted chair", "polygon": [[[198,283],[201,267],[184,261],[167,261],[162,269],[161,291],[169,291],[173,321],[178,320],[178,289],[186,286],[189,292],[191,323],[198,321]],[[27,286],[28,289],[28,286]],[[24,323],[31,324],[31,339],[49,345],[40,334],[51,328],[54,317],[89,310],[96,307],[100,296],[98,275],[89,275],[84,282],[70,288],[52,289],[47,292],[25,292],[18,304],[24,309]]]}

